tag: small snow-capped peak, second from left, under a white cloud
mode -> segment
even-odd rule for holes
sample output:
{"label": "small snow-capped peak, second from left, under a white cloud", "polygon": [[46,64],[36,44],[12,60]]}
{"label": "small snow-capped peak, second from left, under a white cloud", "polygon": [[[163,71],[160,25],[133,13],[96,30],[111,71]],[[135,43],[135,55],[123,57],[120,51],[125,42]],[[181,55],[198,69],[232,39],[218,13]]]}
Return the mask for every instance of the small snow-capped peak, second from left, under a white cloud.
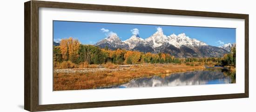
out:
{"label": "small snow-capped peak, second from left, under a white cloud", "polygon": [[133,49],[139,42],[143,41],[138,34],[132,35],[128,40],[123,41],[125,44],[128,44],[130,49]]}

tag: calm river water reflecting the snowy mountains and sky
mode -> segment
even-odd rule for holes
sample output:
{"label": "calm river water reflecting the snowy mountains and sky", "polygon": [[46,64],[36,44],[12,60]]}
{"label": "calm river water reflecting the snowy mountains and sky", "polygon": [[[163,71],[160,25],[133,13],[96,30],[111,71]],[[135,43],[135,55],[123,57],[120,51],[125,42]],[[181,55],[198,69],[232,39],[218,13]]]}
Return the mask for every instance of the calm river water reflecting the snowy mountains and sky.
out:
{"label": "calm river water reflecting the snowy mountains and sky", "polygon": [[227,69],[212,67],[200,71],[174,73],[165,77],[134,79],[110,88],[227,84],[236,82],[234,76],[236,75]]}

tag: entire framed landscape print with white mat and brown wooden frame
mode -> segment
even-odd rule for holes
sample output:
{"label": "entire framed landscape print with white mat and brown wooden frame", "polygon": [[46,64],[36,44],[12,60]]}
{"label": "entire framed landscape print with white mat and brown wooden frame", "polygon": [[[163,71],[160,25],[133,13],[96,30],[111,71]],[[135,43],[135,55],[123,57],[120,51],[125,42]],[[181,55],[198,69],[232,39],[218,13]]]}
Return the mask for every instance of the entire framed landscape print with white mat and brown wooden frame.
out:
{"label": "entire framed landscape print with white mat and brown wooden frame", "polygon": [[25,3],[26,110],[249,97],[249,15]]}

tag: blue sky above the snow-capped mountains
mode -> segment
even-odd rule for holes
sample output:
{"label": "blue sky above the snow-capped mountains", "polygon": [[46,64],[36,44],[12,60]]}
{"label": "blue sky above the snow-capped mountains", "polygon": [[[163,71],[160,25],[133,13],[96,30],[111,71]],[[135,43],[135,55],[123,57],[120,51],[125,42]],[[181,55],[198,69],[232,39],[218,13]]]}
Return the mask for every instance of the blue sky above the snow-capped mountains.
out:
{"label": "blue sky above the snow-capped mountains", "polygon": [[[117,33],[121,40],[129,39],[133,33],[139,33],[146,39],[162,27],[165,35],[185,33],[189,38],[197,39],[211,46],[221,46],[236,43],[235,28],[191,27],[191,26],[161,26],[118,23],[94,23],[54,21],[54,41],[68,37],[78,39],[82,44],[95,44],[107,37],[109,33]],[[138,30],[133,30],[133,29]]]}

